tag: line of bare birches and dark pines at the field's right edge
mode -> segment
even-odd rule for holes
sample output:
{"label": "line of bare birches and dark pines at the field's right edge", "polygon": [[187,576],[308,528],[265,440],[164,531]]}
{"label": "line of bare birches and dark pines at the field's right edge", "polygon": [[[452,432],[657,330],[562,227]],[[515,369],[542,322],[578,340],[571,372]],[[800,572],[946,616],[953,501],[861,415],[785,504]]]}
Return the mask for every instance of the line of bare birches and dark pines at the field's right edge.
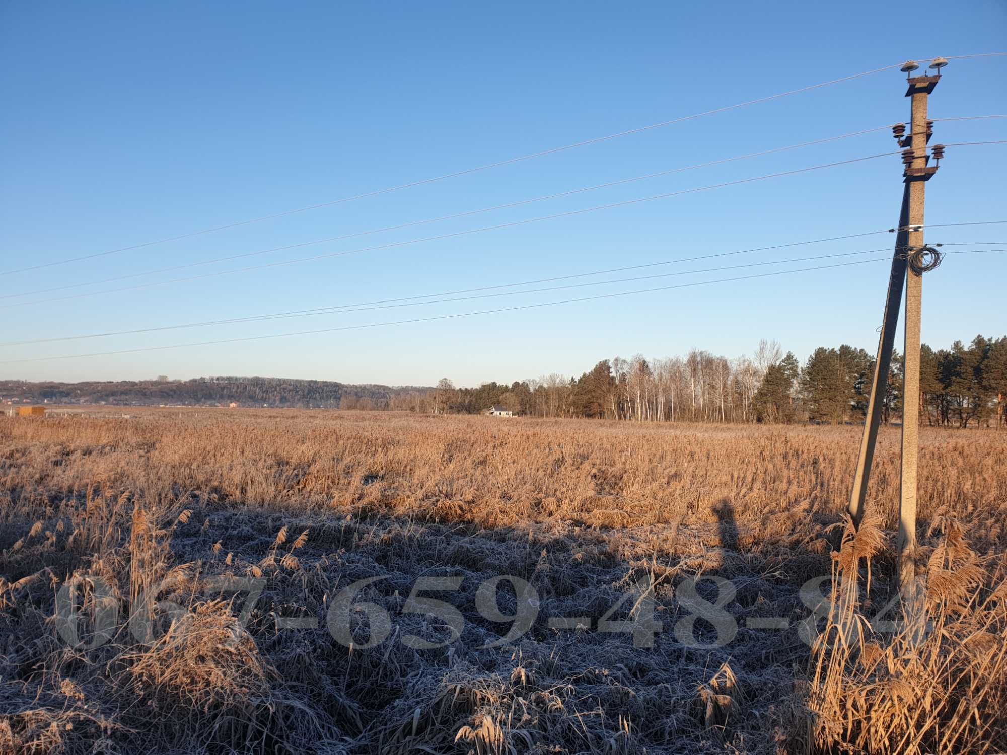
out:
{"label": "line of bare birches and dark pines at the field's right edge", "polygon": [[[477,414],[494,405],[532,417],[586,417],[640,422],[862,422],[875,357],[850,345],[819,347],[804,364],[775,341],[730,359],[691,349],[685,356],[641,354],[602,359],[579,378],[552,373],[512,384],[456,388],[443,379],[430,392],[400,394],[388,409]],[[902,367],[892,358],[882,420],[902,411]],[[976,336],[968,345],[920,352],[921,422],[970,427],[1004,424],[1007,337]]]}

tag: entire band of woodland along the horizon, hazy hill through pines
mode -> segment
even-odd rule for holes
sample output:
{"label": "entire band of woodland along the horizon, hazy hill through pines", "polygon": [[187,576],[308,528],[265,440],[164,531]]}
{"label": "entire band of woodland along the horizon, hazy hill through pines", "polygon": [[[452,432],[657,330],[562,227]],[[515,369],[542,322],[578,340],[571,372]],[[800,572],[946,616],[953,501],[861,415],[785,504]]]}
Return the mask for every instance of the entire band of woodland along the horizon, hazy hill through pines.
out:
{"label": "entire band of woodland along the horizon, hazy hill through pines", "polygon": [[[883,420],[902,411],[902,363],[895,354]],[[920,350],[920,418],[929,425],[1005,425],[1007,337]],[[859,423],[874,355],[862,348],[819,347],[804,364],[775,341],[729,359],[692,349],[685,356],[602,359],[579,378],[559,373],[478,388],[345,385],[282,378],[190,381],[24,383],[0,381],[0,401],[122,406],[290,407],[478,414],[502,406],[532,417],[585,417],[643,422]]]}

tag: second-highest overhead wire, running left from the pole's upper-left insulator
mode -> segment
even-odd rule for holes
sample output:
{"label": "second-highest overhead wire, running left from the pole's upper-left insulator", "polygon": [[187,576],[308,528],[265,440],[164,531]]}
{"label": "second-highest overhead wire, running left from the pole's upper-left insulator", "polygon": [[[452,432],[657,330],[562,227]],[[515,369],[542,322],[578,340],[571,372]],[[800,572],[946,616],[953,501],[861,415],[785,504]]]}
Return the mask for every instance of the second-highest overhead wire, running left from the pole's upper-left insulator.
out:
{"label": "second-highest overhead wire, running left from the pole's upper-left insulator", "polygon": [[558,199],[560,197],[572,196],[573,194],[580,194],[580,193],[584,193],[584,192],[587,192],[587,191],[595,191],[597,189],[610,188],[612,186],[618,186],[618,185],[622,185],[622,184],[626,184],[626,183],[632,183],[632,182],[635,182],[635,181],[642,181],[642,180],[646,180],[646,179],[650,179],[650,178],[658,178],[658,177],[661,177],[661,176],[670,175],[672,173],[681,173],[681,172],[684,172],[684,171],[687,171],[687,170],[696,170],[698,168],[706,168],[706,167],[710,167],[712,165],[721,165],[721,164],[728,163],[728,162],[735,162],[735,161],[738,161],[738,160],[747,160],[747,159],[750,159],[750,158],[753,158],[753,157],[762,157],[762,156],[774,154],[774,153],[777,153],[777,152],[785,152],[785,151],[789,151],[789,150],[794,150],[794,149],[800,149],[802,147],[810,147],[810,146],[817,145],[817,144],[825,144],[827,142],[834,142],[834,141],[838,141],[840,139],[849,139],[849,138],[854,137],[854,136],[862,136],[864,134],[873,134],[873,133],[876,133],[878,131],[886,131],[889,128],[891,128],[891,127],[890,126],[878,126],[878,127],[873,128],[873,129],[865,129],[863,131],[855,131],[855,132],[852,132],[852,133],[849,133],[849,134],[841,134],[840,136],[832,136],[832,137],[827,137],[825,139],[816,139],[816,140],[810,141],[810,142],[802,142],[802,143],[799,143],[799,144],[790,144],[790,145],[787,145],[785,147],[775,147],[773,149],[762,150],[761,152],[750,152],[748,154],[738,155],[736,157],[725,157],[725,158],[722,158],[722,159],[719,159],[719,160],[711,160],[709,162],[698,163],[696,165],[687,165],[687,166],[681,167],[681,168],[671,168],[669,170],[662,170],[662,171],[659,171],[659,172],[656,172],[656,173],[648,173],[645,175],[633,176],[631,178],[621,178],[619,180],[608,181],[606,183],[599,183],[599,184],[595,184],[593,186],[586,186],[586,187],[583,187],[583,188],[570,189],[568,191],[561,191],[561,192],[553,193],[553,194],[545,194],[543,196],[537,196],[537,197],[533,197],[533,198],[530,198],[530,199],[522,199],[522,200],[519,200],[519,201],[507,202],[505,204],[496,204],[496,205],[493,205],[493,206],[490,206],[490,207],[482,207],[480,209],[470,209],[470,210],[466,210],[464,212],[455,212],[455,213],[452,213],[452,214],[440,215],[438,217],[428,217],[426,219],[413,220],[411,222],[403,222],[403,223],[399,223],[397,225],[386,225],[385,228],[372,229],[370,231],[361,231],[361,232],[357,232],[357,233],[354,233],[354,234],[343,234],[341,236],[332,236],[332,237],[327,237],[325,239],[316,239],[316,240],[309,241],[309,242],[300,242],[298,244],[289,244],[289,245],[285,245],[285,246],[282,246],[282,247],[272,247],[270,249],[259,250],[259,251],[256,251],[256,252],[245,252],[245,253],[239,254],[239,255],[229,255],[227,257],[218,257],[218,258],[210,259],[210,260],[202,260],[202,261],[199,261],[199,262],[187,263],[185,265],[172,265],[170,267],[158,268],[157,270],[148,270],[148,271],[145,271],[145,272],[142,272],[142,273],[130,273],[130,274],[127,274],[127,275],[113,276],[111,278],[103,278],[103,279],[100,279],[100,280],[97,280],[97,281],[89,281],[89,282],[86,282],[86,283],[73,283],[73,284],[68,284],[68,285],[64,285],[64,286],[54,286],[54,287],[50,287],[50,288],[35,289],[34,291],[25,291],[25,292],[22,292],[22,293],[19,293],[19,294],[5,294],[3,296],[0,296],[0,299],[14,299],[14,298],[18,298],[18,297],[21,297],[21,296],[31,296],[33,294],[51,293],[53,291],[67,291],[69,289],[82,288],[84,286],[94,286],[94,285],[98,285],[98,284],[101,284],[101,283],[113,283],[115,281],[124,281],[124,280],[128,280],[130,278],[140,278],[140,277],[146,276],[146,275],[156,275],[158,273],[169,273],[169,272],[176,271],[176,270],[185,270],[185,269],[188,269],[188,268],[201,267],[203,265],[212,265],[212,264],[215,264],[215,263],[219,263],[219,262],[230,262],[232,260],[241,260],[241,259],[249,258],[249,257],[258,257],[258,256],[270,254],[270,253],[273,253],[273,252],[283,252],[283,251],[286,251],[286,250],[289,250],[289,249],[300,249],[301,247],[310,247],[310,246],[314,246],[314,245],[318,245],[318,244],[325,244],[325,243],[328,243],[328,242],[338,242],[338,241],[344,241],[346,239],[355,239],[355,238],[363,237],[363,236],[371,236],[373,234],[381,234],[381,233],[385,233],[385,232],[388,232],[388,231],[399,231],[399,230],[402,230],[402,229],[412,228],[412,226],[415,226],[415,225],[425,225],[425,224],[429,224],[431,222],[439,222],[439,221],[442,221],[442,220],[451,220],[451,219],[456,219],[456,218],[459,218],[459,217],[467,217],[469,215],[480,214],[482,212],[492,212],[492,211],[495,211],[495,210],[498,210],[498,209],[509,209],[511,207],[517,207],[517,206],[521,206],[521,205],[524,205],[524,204],[531,204],[533,202],[545,201],[545,200],[548,200],[548,199]]}

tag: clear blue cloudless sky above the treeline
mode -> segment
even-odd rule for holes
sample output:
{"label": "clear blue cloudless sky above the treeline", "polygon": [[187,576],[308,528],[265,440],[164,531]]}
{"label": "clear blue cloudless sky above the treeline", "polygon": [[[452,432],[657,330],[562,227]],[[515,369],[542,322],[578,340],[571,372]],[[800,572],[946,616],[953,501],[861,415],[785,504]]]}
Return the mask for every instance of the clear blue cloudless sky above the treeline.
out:
{"label": "clear blue cloudless sky above the treeline", "polygon": [[[913,31],[853,3],[16,3],[0,5],[0,269],[140,244],[740,103],[909,57],[1007,49],[1001,0],[934,5]],[[906,41],[910,36],[916,40]],[[933,118],[1007,113],[1007,57],[952,61]],[[221,233],[0,277],[8,296],[477,209],[908,119],[897,70],[644,133]],[[1003,139],[1007,119],[937,124]],[[895,149],[881,131],[471,217],[263,255],[262,264],[480,228]],[[887,229],[897,157],[567,218],[270,270],[70,298],[193,271],[0,300],[3,340],[55,337],[645,264]],[[1007,219],[1007,146],[949,150],[930,223]],[[1007,225],[928,242],[1007,241]],[[890,248],[892,236],[678,269]],[[1005,245],[1007,246],[1007,245]],[[954,249],[954,248],[949,248]],[[828,262],[828,261],[825,261]],[[804,267],[823,263],[796,264]],[[786,267],[786,266],[781,266]],[[672,272],[669,266],[664,272]],[[662,272],[661,269],[654,272]],[[758,270],[750,272],[760,272]],[[644,271],[645,273],[645,271]],[[735,273],[397,310],[25,346],[85,353],[468,312]],[[29,380],[261,374],[459,385],[616,354],[727,356],[759,338],[802,360],[873,352],[884,263],[495,315],[147,353],[0,365]],[[1007,332],[1007,253],[924,280],[923,339]],[[619,276],[617,276],[619,277]],[[6,305],[61,297],[57,301]]]}

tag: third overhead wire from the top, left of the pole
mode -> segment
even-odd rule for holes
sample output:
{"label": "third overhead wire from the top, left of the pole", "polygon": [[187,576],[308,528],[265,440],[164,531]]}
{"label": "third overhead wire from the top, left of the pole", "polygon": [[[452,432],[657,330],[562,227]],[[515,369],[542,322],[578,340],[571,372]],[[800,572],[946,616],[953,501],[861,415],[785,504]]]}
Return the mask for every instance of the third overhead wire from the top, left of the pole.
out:
{"label": "third overhead wire from the top, left of the pole", "polygon": [[807,173],[807,172],[813,171],[813,170],[822,170],[822,169],[825,169],[825,168],[833,168],[833,167],[836,167],[836,166],[839,166],[839,165],[848,165],[848,164],[851,164],[851,163],[863,162],[865,160],[873,160],[873,159],[876,159],[878,157],[886,157],[886,156],[889,156],[889,155],[896,155],[896,154],[901,154],[901,153],[899,151],[897,151],[897,150],[893,151],[893,152],[881,152],[881,153],[878,153],[876,155],[867,155],[866,157],[856,157],[856,158],[853,158],[853,159],[850,159],[850,160],[840,160],[838,162],[826,163],[826,164],[823,164],[823,165],[813,165],[813,166],[807,167],[807,168],[796,168],[794,170],[784,170],[784,171],[781,171],[781,172],[778,172],[778,173],[769,173],[767,175],[754,176],[752,178],[739,178],[739,179],[734,180],[734,181],[725,181],[725,182],[722,182],[722,183],[714,183],[714,184],[710,184],[710,185],[707,185],[707,186],[699,186],[699,187],[691,188],[691,189],[680,189],[678,191],[669,191],[669,192],[665,192],[665,193],[661,193],[661,194],[654,194],[652,196],[639,197],[639,198],[636,198],[636,199],[624,199],[622,201],[610,202],[608,204],[599,204],[599,205],[596,205],[596,206],[593,206],[593,207],[585,207],[585,208],[582,208],[582,209],[572,209],[572,210],[567,210],[567,211],[564,211],[564,212],[556,212],[556,213],[549,214],[549,215],[542,215],[542,216],[539,216],[539,217],[530,217],[530,218],[526,218],[526,219],[523,219],[523,220],[512,220],[510,222],[497,223],[495,225],[485,225],[483,228],[478,228],[478,229],[469,229],[467,231],[456,231],[456,232],[452,232],[450,234],[440,234],[438,236],[431,236],[431,237],[426,237],[426,238],[422,238],[422,239],[411,239],[411,240],[407,240],[407,241],[403,241],[403,242],[393,242],[393,243],[390,243],[390,244],[382,244],[382,245],[378,245],[378,246],[375,246],[375,247],[363,247],[361,249],[352,249],[352,250],[347,250],[347,251],[343,251],[343,252],[331,252],[331,253],[324,254],[324,255],[314,255],[314,256],[311,256],[311,257],[301,257],[301,258],[296,258],[296,259],[293,259],[293,260],[282,260],[280,262],[272,262],[272,263],[267,263],[267,264],[264,264],[264,265],[250,265],[250,266],[247,266],[247,267],[244,267],[244,268],[235,268],[235,269],[232,269],[232,270],[222,270],[222,271],[217,271],[217,272],[213,272],[213,273],[203,273],[203,274],[195,275],[195,276],[186,276],[186,277],[183,277],[183,278],[172,278],[172,279],[168,279],[168,280],[165,280],[165,281],[154,281],[154,282],[151,282],[151,283],[137,284],[135,286],[123,286],[123,287],[120,287],[120,288],[105,289],[105,290],[102,290],[102,291],[91,291],[91,292],[84,293],[84,294],[75,294],[74,296],[63,296],[63,297],[50,298],[50,299],[36,299],[34,301],[29,301],[29,302],[18,302],[18,303],[15,303],[15,304],[6,304],[6,305],[3,305],[2,307],[0,307],[0,309],[10,309],[10,308],[13,308],[13,307],[30,306],[30,305],[33,305],[33,304],[45,304],[45,303],[49,303],[49,302],[65,302],[65,301],[68,301],[68,300],[71,300],[71,299],[81,299],[81,298],[89,297],[89,296],[100,296],[100,295],[103,295],[103,294],[121,293],[123,291],[135,291],[135,290],[138,290],[138,289],[150,288],[152,286],[163,286],[163,285],[168,285],[168,284],[171,284],[171,283],[184,283],[184,282],[188,282],[188,281],[201,280],[201,279],[204,279],[204,278],[213,278],[213,277],[218,277],[218,276],[222,276],[222,275],[233,275],[235,273],[245,273],[245,272],[249,272],[249,271],[252,271],[252,270],[264,270],[264,269],[267,269],[267,268],[275,268],[275,267],[281,267],[281,266],[285,266],[285,265],[294,265],[294,264],[298,264],[298,263],[302,263],[302,262],[314,262],[316,260],[325,260],[325,259],[333,258],[333,257],[345,257],[346,255],[361,254],[361,253],[364,253],[364,252],[374,252],[376,250],[394,249],[394,248],[405,247],[405,246],[409,246],[409,245],[413,245],[413,244],[420,244],[420,243],[423,243],[423,242],[440,241],[440,240],[443,240],[443,239],[453,239],[453,238],[457,238],[457,237],[461,237],[461,236],[469,236],[471,234],[480,234],[480,233],[484,233],[484,232],[487,232],[487,231],[498,231],[500,229],[515,228],[515,226],[518,226],[518,225],[527,225],[527,224],[532,223],[532,222],[541,222],[543,220],[552,220],[552,219],[556,219],[556,218],[559,218],[559,217],[570,217],[570,216],[573,216],[573,215],[584,214],[585,212],[594,212],[594,211],[601,210],[601,209],[611,209],[611,208],[614,208],[614,207],[623,207],[623,206],[628,206],[628,205],[631,205],[631,204],[638,204],[640,202],[654,201],[656,199],[667,199],[669,197],[679,196],[681,194],[691,194],[691,193],[696,193],[698,191],[708,191],[708,190],[716,189],[716,188],[724,188],[726,186],[737,186],[737,185],[740,185],[740,184],[751,183],[753,181],[763,181],[763,180],[767,180],[769,178],[779,178],[781,176],[796,175],[798,173]]}

